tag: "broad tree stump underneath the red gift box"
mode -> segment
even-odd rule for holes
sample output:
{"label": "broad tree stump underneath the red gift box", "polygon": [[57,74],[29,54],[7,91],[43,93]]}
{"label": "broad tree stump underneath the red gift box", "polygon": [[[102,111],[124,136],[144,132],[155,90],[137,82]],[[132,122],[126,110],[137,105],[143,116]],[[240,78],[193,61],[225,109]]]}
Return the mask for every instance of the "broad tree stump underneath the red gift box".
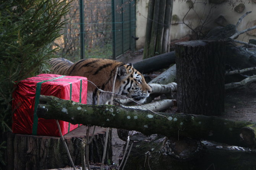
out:
{"label": "broad tree stump underneath the red gift box", "polygon": [[[85,147],[81,140],[86,138],[86,129],[86,126],[81,126],[64,135],[75,165],[81,165],[83,162],[81,157]],[[92,143],[89,145],[89,160],[91,162],[101,162],[102,160],[105,131],[105,128],[96,128]],[[7,146],[7,170],[38,170],[71,166],[60,137],[8,133]],[[109,161],[112,162],[111,136],[108,141],[105,164]]]}

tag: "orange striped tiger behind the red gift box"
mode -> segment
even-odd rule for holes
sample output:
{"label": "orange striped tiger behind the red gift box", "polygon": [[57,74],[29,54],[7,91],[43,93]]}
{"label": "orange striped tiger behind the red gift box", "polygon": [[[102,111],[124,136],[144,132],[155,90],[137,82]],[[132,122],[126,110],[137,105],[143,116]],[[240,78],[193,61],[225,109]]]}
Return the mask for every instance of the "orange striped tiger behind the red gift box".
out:
{"label": "orange striped tiger behind the red gift box", "polygon": [[[87,104],[97,104],[98,88],[111,91],[117,71],[114,92],[132,98],[143,104],[151,92],[151,87],[146,83],[144,76],[133,68],[132,64],[124,64],[112,59],[88,58],[73,63],[65,58],[52,58],[49,61],[51,74],[87,77]],[[96,86],[95,86],[96,85]],[[115,98],[122,98],[114,95]],[[108,104],[111,93],[100,93],[99,105]]]}

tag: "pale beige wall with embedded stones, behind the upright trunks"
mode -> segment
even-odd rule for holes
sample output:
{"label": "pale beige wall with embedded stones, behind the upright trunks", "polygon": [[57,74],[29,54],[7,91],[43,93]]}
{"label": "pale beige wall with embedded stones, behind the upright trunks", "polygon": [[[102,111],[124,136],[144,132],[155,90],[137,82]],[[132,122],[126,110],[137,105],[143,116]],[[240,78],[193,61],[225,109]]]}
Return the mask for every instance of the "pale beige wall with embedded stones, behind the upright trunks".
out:
{"label": "pale beige wall with embedded stones, behind the upright trunks", "polygon": [[[147,9],[149,0],[137,0],[136,1],[136,36],[139,40],[136,41],[136,48],[140,49],[144,46],[145,33],[146,33],[146,22],[147,22]],[[212,0],[214,1],[214,0]],[[235,0],[233,0],[235,1]],[[254,1],[254,2],[253,2]],[[188,0],[174,0],[173,1],[173,12],[172,15],[172,28],[171,28],[171,39],[176,40],[184,37],[188,34],[192,34],[193,31],[183,24],[182,19],[186,15],[184,22],[188,24],[191,28],[195,29],[200,27],[204,23],[204,28],[209,30],[215,26],[221,26],[215,22],[220,15],[224,16],[227,20],[226,24],[236,24],[238,19],[245,14],[247,11],[252,11],[248,14],[243,21],[240,23],[238,30],[246,29],[248,22],[255,21],[256,24],[256,0],[243,0],[242,3],[245,5],[245,9],[238,13],[235,11],[235,6],[241,2],[235,3],[234,6],[228,4],[228,2],[223,2],[220,4],[209,3],[209,0],[196,0],[193,8],[188,12],[189,5],[193,3]],[[188,12],[188,14],[186,14]],[[207,24],[206,24],[207,23]],[[252,23],[251,23],[252,24]],[[255,24],[252,24],[255,25]],[[240,35],[237,40],[243,40],[248,42],[249,39],[256,39],[256,30],[254,30],[253,35],[248,35],[247,33]]]}

